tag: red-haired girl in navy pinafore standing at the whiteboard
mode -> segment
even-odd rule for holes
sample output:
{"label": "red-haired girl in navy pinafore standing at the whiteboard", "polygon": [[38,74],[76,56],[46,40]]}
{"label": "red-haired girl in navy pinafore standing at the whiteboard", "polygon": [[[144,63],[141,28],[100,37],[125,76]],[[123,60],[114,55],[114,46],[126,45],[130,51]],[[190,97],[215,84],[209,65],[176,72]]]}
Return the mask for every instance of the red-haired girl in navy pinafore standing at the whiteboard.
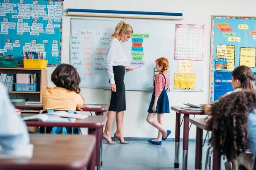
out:
{"label": "red-haired girl in navy pinafore standing at the whiteboard", "polygon": [[[152,94],[151,102],[148,108],[147,122],[158,129],[158,136],[156,139],[148,140],[151,144],[162,144],[162,140],[166,140],[171,134],[171,130],[166,130],[163,127],[164,113],[170,113],[169,99],[166,90],[169,88],[170,79],[167,74],[169,62],[166,58],[159,58],[156,60],[156,69],[160,72],[154,80],[154,92]],[[157,114],[157,122],[154,117]]]}

